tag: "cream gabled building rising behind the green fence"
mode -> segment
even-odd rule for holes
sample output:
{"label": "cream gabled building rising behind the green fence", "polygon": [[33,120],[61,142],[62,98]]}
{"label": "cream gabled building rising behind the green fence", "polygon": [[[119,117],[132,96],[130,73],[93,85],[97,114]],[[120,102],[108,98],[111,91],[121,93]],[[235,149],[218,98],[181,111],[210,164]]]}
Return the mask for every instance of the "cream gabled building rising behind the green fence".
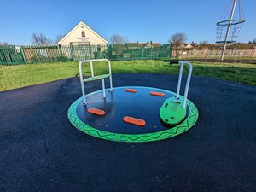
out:
{"label": "cream gabled building rising behind the green fence", "polygon": [[90,45],[107,45],[108,41],[98,33],[93,31],[90,26],[87,26],[83,21],[67,33],[58,42],[61,45],[79,45],[79,44],[90,44]]}

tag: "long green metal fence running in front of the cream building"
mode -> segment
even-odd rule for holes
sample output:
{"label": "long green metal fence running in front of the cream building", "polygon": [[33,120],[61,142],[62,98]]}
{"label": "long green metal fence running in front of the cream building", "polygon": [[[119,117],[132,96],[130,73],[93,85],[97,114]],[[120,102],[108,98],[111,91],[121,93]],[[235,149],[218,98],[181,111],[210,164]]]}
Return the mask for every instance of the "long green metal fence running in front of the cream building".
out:
{"label": "long green metal fence running in front of the cream building", "polygon": [[114,45],[0,45],[0,65],[17,65],[55,61],[81,61],[86,59],[145,60],[170,58],[172,47],[127,47]]}

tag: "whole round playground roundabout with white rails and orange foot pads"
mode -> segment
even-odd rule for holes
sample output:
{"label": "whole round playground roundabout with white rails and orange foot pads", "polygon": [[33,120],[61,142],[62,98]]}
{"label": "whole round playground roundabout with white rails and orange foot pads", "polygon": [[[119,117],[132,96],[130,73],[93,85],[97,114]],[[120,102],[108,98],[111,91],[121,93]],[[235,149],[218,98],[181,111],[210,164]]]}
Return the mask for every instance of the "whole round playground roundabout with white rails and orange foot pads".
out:
{"label": "whole round playground roundabout with white rails and orange foot pads", "polygon": [[[96,61],[107,61],[109,74],[94,76],[93,62]],[[84,79],[82,64],[86,62],[90,62],[91,77]],[[154,142],[188,131],[199,117],[195,104],[187,99],[192,65],[185,61],[178,64],[181,67],[175,93],[154,87],[113,87],[110,61],[80,61],[83,96],[68,109],[69,121],[92,137],[115,142]],[[189,75],[184,96],[180,96],[184,64],[189,65]],[[105,89],[106,78],[109,78],[109,89]],[[85,94],[85,83],[100,79],[102,90]]]}

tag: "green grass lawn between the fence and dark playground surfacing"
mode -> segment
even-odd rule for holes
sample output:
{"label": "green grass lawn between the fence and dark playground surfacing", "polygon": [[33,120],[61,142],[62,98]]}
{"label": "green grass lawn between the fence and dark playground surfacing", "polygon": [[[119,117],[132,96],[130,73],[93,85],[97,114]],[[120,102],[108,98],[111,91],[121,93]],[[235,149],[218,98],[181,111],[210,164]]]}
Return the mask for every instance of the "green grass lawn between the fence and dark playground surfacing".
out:
{"label": "green grass lawn between the fence and dark playground surfacing", "polygon": [[[74,77],[79,73],[79,62],[58,62],[0,66],[0,91],[11,90],[32,84],[41,84],[58,79]],[[255,61],[256,63],[256,61]],[[113,73],[178,74],[178,65],[165,61],[112,61]],[[256,85],[256,64],[218,63],[193,61],[193,75],[227,79]],[[188,70],[188,67],[184,68]],[[94,65],[95,75],[108,73],[107,63]],[[90,75],[89,63],[84,66],[84,75]]]}

